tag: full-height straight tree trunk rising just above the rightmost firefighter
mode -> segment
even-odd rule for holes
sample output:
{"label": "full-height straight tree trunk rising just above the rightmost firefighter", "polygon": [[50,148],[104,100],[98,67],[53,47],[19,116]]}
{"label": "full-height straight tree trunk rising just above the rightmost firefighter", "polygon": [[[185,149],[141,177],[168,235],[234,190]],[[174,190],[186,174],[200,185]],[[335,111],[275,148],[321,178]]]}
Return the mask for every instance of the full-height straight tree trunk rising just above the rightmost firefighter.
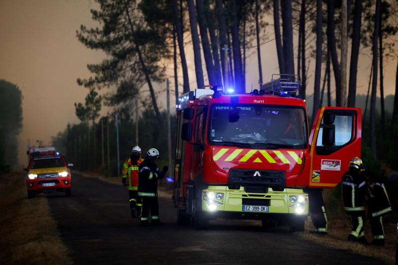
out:
{"label": "full-height straight tree trunk rising just above the rightmost firefighter", "polygon": [[377,159],[376,149],[376,92],[377,92],[377,40],[379,37],[379,23],[380,23],[380,3],[381,0],[376,0],[375,12],[375,29],[373,31],[373,81],[372,81],[372,96],[370,99],[370,149],[373,159]]}

